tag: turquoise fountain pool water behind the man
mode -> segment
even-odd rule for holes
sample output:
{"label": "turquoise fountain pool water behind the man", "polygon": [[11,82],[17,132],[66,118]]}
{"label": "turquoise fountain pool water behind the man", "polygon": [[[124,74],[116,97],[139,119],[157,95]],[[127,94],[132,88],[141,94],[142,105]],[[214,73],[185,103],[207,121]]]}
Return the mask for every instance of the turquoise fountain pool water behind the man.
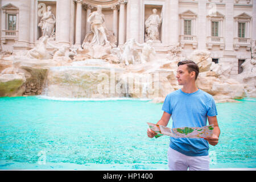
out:
{"label": "turquoise fountain pool water behind the man", "polygon": [[[0,169],[168,169],[169,138],[146,134],[162,104],[119,99],[0,98]],[[256,167],[255,108],[253,98],[217,104],[210,168]]]}

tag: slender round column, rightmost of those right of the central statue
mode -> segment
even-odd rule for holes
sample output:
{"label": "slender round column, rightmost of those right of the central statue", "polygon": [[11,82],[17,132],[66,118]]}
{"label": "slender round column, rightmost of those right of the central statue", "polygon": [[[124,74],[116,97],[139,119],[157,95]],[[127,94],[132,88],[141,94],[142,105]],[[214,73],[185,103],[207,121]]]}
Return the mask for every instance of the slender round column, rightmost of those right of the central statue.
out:
{"label": "slender round column, rightmost of those right of the central statue", "polygon": [[[125,4],[126,0],[119,0],[120,10],[119,10],[119,34],[118,34],[118,45],[123,45],[125,43]],[[138,19],[137,19],[138,22]]]}

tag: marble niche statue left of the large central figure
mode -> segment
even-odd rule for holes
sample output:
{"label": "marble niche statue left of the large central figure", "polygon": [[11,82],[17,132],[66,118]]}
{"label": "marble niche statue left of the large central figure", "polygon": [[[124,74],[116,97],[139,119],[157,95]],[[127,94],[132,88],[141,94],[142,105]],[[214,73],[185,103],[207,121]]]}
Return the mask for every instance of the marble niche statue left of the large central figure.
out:
{"label": "marble niche statue left of the large central figure", "polygon": [[51,39],[55,39],[55,15],[51,12],[52,7],[47,6],[46,13],[43,14],[42,19],[38,26],[42,30],[42,36],[48,36]]}

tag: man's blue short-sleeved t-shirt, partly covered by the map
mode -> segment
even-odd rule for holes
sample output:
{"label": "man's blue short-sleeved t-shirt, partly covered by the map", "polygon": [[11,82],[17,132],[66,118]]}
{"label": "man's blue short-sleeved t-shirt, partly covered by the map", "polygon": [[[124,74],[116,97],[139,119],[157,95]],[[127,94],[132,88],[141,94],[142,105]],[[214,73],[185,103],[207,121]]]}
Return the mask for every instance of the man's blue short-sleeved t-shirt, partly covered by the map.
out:
{"label": "man's blue short-sleeved t-shirt, partly covered by the map", "polygon": [[[200,89],[193,93],[175,90],[166,96],[162,110],[171,114],[172,128],[203,127],[207,125],[207,115],[217,115],[213,97]],[[203,138],[171,137],[170,147],[188,156],[205,156],[209,150],[209,144]]]}

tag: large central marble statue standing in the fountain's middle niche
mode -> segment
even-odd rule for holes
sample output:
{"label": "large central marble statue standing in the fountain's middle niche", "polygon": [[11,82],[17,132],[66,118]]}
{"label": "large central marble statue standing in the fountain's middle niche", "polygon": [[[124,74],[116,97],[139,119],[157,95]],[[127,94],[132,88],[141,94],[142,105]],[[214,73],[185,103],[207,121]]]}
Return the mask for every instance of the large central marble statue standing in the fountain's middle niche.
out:
{"label": "large central marble statue standing in the fountain's middle niche", "polygon": [[100,46],[104,46],[109,43],[106,36],[106,27],[105,27],[105,18],[104,14],[101,13],[101,6],[97,6],[97,11],[93,11],[93,13],[89,14],[88,22],[91,25],[91,30],[93,32],[93,38],[90,42],[91,45],[97,44]]}

